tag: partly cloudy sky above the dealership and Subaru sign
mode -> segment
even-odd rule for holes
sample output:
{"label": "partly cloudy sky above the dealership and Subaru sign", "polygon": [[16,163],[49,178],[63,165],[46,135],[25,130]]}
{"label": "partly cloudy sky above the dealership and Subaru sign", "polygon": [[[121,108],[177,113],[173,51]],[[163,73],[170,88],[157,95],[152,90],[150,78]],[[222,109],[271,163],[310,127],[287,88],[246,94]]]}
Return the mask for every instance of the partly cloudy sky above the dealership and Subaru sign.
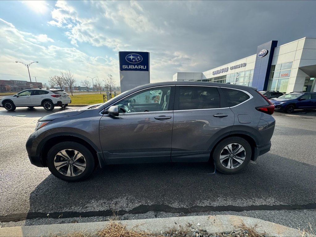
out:
{"label": "partly cloudy sky above the dealership and Subaru sign", "polygon": [[150,52],[150,82],[204,72],[316,38],[316,1],[0,1],[0,79],[47,83],[70,70],[77,84],[112,74],[119,51]]}

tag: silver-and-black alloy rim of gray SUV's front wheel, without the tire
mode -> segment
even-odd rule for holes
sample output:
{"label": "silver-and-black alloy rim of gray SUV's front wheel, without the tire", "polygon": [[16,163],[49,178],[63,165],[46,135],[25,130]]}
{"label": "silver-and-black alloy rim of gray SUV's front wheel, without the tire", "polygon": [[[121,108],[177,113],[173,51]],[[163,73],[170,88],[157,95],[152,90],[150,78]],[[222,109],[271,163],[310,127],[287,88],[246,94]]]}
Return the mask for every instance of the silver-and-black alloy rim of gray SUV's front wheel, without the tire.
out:
{"label": "silver-and-black alloy rim of gray SUV's front wheel, without the tire", "polygon": [[54,166],[59,173],[65,176],[77,176],[86,169],[86,158],[73,149],[59,151],[54,158]]}

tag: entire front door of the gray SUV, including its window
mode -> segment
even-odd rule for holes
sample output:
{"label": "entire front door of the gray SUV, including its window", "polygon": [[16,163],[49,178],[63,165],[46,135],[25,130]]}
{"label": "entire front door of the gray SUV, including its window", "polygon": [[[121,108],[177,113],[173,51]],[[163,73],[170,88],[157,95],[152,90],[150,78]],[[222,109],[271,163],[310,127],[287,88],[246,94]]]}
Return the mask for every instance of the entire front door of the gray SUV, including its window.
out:
{"label": "entire front door of the gray SUV, including its window", "polygon": [[[101,118],[99,135],[106,163],[171,161],[174,87],[133,93],[114,104],[119,116]],[[150,101],[152,94],[157,94],[155,101]]]}

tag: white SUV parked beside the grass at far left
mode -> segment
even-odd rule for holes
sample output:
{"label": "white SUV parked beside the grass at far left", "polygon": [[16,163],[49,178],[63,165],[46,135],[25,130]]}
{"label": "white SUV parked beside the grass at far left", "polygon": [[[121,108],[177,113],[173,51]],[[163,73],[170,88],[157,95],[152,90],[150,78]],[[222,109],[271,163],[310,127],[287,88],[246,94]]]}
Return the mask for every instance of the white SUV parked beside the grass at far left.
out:
{"label": "white SUV parked beside the grass at far left", "polygon": [[8,111],[13,111],[16,107],[38,106],[43,106],[45,110],[53,110],[55,105],[64,108],[70,103],[71,98],[63,90],[47,88],[27,89],[0,99],[0,107],[4,107]]}

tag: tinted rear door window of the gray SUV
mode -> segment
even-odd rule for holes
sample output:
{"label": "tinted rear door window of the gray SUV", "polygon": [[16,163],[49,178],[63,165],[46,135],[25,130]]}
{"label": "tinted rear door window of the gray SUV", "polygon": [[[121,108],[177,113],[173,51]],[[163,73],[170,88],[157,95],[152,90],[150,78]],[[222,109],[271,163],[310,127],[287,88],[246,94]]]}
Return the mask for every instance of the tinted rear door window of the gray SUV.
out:
{"label": "tinted rear door window of the gray SUV", "polygon": [[180,86],[179,110],[220,108],[220,96],[216,87]]}

